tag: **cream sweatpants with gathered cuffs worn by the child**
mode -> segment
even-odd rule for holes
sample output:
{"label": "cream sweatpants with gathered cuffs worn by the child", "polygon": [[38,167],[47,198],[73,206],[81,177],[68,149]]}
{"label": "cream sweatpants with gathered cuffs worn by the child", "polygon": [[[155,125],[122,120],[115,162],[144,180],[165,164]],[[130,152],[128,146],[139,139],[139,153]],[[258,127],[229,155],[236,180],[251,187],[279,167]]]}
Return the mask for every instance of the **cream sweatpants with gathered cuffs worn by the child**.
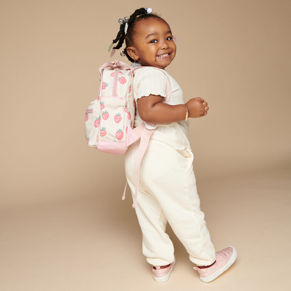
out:
{"label": "cream sweatpants with gathered cuffs worn by the child", "polygon": [[[138,149],[136,141],[125,153],[125,174],[132,196]],[[207,266],[216,259],[204,213],[200,211],[192,161],[190,150],[174,150],[152,139],[141,161],[135,210],[143,235],[143,254],[155,267],[174,261],[173,243],[165,233],[167,221],[193,263]]]}

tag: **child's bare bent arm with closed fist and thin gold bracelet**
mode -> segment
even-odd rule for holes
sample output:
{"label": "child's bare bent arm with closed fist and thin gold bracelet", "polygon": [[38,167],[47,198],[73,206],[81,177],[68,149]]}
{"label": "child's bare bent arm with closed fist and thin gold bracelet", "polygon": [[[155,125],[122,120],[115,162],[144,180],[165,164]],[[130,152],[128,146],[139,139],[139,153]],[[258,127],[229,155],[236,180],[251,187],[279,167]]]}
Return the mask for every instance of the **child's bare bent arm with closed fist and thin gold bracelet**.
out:
{"label": "child's bare bent arm with closed fist and thin gold bracelet", "polygon": [[[149,95],[137,100],[137,108],[141,119],[148,123],[163,124],[184,120],[187,109],[184,104],[169,105],[162,103],[160,95]],[[204,99],[197,97],[185,103],[188,117],[202,117],[207,114],[209,107]]]}

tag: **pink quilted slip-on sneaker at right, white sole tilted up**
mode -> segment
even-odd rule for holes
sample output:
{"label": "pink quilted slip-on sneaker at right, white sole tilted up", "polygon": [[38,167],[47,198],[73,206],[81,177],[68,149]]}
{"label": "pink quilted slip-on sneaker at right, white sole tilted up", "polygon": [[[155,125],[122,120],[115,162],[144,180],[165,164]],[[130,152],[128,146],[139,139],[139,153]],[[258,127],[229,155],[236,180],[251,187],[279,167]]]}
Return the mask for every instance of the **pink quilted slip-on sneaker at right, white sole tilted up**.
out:
{"label": "pink quilted slip-on sneaker at right, white sole tilted up", "polygon": [[216,262],[211,267],[204,269],[194,267],[194,269],[198,271],[202,282],[211,282],[226,271],[235,262],[236,257],[236,249],[233,246],[228,246],[216,253]]}

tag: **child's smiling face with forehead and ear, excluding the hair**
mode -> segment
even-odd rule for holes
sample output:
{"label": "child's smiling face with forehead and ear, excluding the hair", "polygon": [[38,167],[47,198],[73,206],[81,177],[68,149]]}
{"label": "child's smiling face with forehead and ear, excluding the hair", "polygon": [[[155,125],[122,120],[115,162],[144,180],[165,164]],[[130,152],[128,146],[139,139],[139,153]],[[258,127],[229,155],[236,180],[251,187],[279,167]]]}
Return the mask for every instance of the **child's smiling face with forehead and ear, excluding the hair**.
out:
{"label": "child's smiling face with forehead and ear, excluding the hair", "polygon": [[164,69],[176,55],[170,26],[161,19],[141,20],[136,28],[134,45],[128,54],[142,66]]}

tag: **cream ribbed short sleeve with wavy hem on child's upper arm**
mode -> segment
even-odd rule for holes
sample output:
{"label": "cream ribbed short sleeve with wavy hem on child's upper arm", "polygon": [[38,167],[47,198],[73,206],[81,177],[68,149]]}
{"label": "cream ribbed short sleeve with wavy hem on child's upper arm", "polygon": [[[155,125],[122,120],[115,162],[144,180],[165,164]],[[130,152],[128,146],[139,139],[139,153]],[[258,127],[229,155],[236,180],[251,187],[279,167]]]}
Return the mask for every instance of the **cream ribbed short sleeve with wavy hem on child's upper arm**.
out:
{"label": "cream ribbed short sleeve with wavy hem on child's upper arm", "polygon": [[140,68],[134,72],[134,99],[144,96],[161,95],[166,97],[166,76],[157,68]]}

